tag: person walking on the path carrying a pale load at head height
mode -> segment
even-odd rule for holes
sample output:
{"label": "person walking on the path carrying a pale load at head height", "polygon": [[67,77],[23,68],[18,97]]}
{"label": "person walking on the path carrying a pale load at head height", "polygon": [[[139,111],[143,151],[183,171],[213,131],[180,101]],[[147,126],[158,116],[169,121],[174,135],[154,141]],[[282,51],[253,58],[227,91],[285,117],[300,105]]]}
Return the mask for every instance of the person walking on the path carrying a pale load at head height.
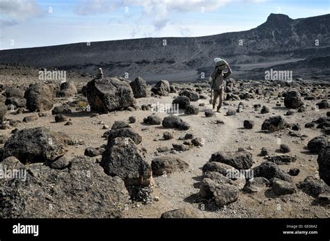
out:
{"label": "person walking on the path carrying a pale load at head height", "polygon": [[[212,106],[213,109],[215,108],[215,105],[217,103],[217,99],[219,97],[219,106],[217,107],[217,111],[219,112],[222,101],[223,101],[223,83],[224,79],[226,79],[228,76],[230,76],[231,69],[226,60],[223,60],[221,58],[214,58],[214,71],[211,74],[211,99],[212,99],[212,92],[213,92],[213,101]],[[226,73],[223,73],[224,69],[228,69]]]}

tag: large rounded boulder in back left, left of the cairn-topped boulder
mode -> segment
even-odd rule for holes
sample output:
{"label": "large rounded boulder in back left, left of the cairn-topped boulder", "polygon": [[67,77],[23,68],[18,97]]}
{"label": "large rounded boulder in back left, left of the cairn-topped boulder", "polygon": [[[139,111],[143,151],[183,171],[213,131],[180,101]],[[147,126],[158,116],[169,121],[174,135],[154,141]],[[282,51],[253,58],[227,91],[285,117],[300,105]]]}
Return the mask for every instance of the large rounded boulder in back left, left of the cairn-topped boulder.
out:
{"label": "large rounded boulder in back left, left of the cairn-topped boulder", "polygon": [[53,108],[53,88],[45,83],[31,85],[24,93],[26,108],[31,112]]}

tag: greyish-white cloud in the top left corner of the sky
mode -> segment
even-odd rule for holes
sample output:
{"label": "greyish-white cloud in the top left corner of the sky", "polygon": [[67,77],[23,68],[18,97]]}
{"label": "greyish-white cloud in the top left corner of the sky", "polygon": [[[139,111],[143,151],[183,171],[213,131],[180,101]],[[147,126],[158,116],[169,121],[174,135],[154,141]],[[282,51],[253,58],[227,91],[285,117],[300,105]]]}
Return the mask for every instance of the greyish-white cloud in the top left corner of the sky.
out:
{"label": "greyish-white cloud in the top left corner of the sky", "polygon": [[42,15],[42,9],[34,0],[10,0],[0,1],[0,15],[3,22],[23,22],[33,17]]}

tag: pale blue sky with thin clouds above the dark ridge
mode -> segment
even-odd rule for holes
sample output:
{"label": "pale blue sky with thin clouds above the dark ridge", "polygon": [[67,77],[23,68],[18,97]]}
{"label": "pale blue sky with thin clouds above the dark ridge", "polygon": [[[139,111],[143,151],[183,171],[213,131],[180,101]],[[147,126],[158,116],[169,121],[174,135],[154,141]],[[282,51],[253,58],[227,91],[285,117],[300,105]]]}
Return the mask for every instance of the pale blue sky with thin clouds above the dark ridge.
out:
{"label": "pale blue sky with thin clouds above the dark ridge", "polygon": [[330,0],[0,0],[0,49],[244,31],[270,13],[330,13]]}

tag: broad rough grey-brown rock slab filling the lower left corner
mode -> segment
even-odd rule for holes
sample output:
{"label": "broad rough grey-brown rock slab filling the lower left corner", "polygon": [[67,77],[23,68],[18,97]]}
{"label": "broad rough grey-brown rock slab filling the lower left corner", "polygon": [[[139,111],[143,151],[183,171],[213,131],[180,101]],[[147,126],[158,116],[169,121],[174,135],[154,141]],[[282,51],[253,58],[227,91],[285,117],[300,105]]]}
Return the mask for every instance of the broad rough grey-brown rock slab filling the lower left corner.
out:
{"label": "broad rough grey-brown rock slab filling the lower left corner", "polygon": [[73,158],[70,167],[61,170],[42,163],[24,166],[13,157],[1,164],[24,174],[0,179],[1,218],[123,217],[129,199],[124,182],[107,176],[89,158]]}

